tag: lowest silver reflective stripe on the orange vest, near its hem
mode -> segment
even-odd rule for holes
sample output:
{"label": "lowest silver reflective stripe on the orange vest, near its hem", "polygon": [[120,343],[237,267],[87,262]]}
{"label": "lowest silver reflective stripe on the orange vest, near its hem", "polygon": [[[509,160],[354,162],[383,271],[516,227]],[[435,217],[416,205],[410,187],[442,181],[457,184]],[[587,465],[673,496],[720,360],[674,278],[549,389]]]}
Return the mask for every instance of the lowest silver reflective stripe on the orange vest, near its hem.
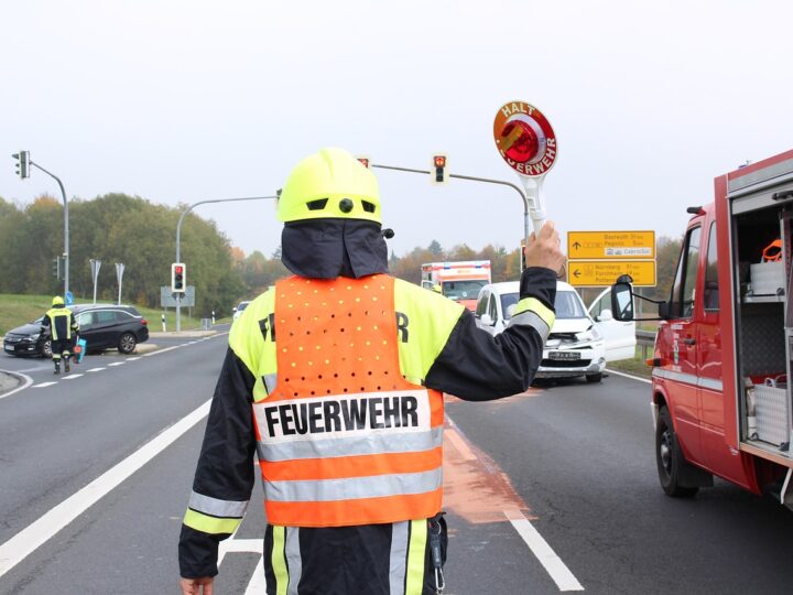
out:
{"label": "lowest silver reflective stripe on the orange vest, near its hem", "polygon": [[443,472],[400,473],[297,482],[264,480],[264,495],[275,502],[332,502],[359,498],[383,498],[434,491],[443,484]]}

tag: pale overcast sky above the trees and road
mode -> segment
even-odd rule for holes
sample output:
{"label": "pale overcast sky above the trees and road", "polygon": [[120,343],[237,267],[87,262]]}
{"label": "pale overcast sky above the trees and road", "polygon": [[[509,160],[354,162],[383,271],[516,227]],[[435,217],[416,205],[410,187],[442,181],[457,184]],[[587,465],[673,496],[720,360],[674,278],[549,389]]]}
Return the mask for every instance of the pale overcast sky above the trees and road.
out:
{"label": "pale overcast sky above the trees and road", "polygon": [[[420,169],[444,150],[453,173],[517,182],[492,122],[520,99],[556,132],[564,234],[678,236],[715,176],[793,148],[792,22],[786,0],[6,2],[0,196],[59,197],[15,176],[20,149],[83,199],[270,195],[325,145]],[[398,255],[520,240],[509,188],[377,175]],[[267,202],[196,212],[247,253],[280,244]]]}

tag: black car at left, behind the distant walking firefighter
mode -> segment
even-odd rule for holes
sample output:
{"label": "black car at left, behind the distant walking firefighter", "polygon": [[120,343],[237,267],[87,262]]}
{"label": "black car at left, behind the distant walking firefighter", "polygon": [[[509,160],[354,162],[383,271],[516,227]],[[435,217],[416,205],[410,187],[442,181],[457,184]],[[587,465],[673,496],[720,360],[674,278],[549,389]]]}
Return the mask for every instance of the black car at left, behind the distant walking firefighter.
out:
{"label": "black car at left, behind the distant walking firefighter", "polygon": [[[139,343],[149,339],[149,323],[132,306],[91,304],[74,305],[69,310],[77,320],[79,336],[86,340],[88,353],[118,349],[131,354]],[[17,356],[52,357],[50,328],[42,333],[41,321],[9,331],[3,350]]]}

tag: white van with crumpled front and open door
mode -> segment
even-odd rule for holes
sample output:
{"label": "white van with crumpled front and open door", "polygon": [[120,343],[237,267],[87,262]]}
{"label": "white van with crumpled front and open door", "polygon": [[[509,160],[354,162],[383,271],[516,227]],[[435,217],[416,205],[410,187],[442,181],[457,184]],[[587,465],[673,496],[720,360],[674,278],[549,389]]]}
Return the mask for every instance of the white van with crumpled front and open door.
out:
{"label": "white van with crumpled front and open door", "polygon": [[[518,281],[485,285],[477,299],[477,326],[491,335],[501,333],[512,317],[519,291]],[[613,320],[610,291],[598,295],[587,312],[573,285],[556,281],[556,322],[536,378],[585,376],[589,382],[599,382],[607,361],[634,356],[636,323]]]}

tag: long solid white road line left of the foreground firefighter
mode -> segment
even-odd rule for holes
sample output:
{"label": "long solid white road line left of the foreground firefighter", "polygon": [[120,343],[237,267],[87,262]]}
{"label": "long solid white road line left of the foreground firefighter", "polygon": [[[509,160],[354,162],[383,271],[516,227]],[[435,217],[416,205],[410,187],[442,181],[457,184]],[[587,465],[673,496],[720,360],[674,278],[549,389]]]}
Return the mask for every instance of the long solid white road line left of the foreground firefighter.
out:
{"label": "long solid white road line left of the foreground firefighter", "polygon": [[94,479],[86,487],[66,498],[37,520],[22,529],[0,545],[0,576],[28,558],[40,545],[46,543],[100,498],[110,493],[143,465],[149,463],[176,439],[187,432],[209,413],[211,400],[206,401],[171,428],[149,441],[111,469]]}

